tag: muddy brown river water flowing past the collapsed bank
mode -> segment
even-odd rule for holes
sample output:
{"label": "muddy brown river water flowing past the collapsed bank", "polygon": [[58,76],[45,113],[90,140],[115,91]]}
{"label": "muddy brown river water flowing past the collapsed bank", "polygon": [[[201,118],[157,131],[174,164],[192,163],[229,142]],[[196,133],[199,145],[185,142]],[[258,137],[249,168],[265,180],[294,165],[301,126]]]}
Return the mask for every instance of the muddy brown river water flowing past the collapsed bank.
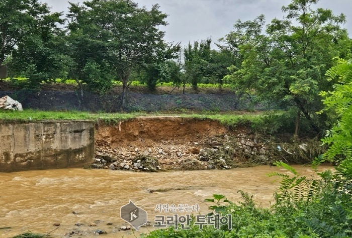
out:
{"label": "muddy brown river water flowing past the collapsed bank", "polygon": [[[294,168],[301,175],[314,173],[309,166]],[[325,169],[332,167],[319,167],[320,171]],[[152,225],[139,231],[119,230],[125,224],[120,208],[129,200],[148,212],[152,224],[155,215],[170,215],[155,210],[158,204],[199,204],[199,213],[206,214],[209,204],[203,201],[212,194],[238,201],[237,191],[243,190],[257,203],[268,206],[278,187],[278,182],[273,183],[275,178],[267,176],[273,171],[287,173],[270,166],[159,173],[84,169],[0,173],[0,237],[27,231],[50,233],[52,237],[68,237],[69,232],[77,231],[93,237],[97,229],[107,231],[104,237],[135,237],[153,230]],[[90,226],[92,223],[97,226]]]}

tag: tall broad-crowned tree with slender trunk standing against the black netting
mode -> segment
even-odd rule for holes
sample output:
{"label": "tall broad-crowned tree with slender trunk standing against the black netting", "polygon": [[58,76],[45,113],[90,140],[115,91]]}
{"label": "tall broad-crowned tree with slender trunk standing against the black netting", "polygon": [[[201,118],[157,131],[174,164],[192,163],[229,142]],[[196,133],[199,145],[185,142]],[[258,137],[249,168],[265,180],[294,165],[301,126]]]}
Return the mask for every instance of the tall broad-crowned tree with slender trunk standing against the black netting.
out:
{"label": "tall broad-crowned tree with slender trunk standing against the black netting", "polygon": [[68,17],[71,34],[94,42],[97,48],[90,52],[104,55],[101,58],[122,81],[123,110],[133,67],[165,46],[159,26],[166,25],[167,15],[158,5],[147,10],[131,0],[92,0],[81,7],[71,3]]}

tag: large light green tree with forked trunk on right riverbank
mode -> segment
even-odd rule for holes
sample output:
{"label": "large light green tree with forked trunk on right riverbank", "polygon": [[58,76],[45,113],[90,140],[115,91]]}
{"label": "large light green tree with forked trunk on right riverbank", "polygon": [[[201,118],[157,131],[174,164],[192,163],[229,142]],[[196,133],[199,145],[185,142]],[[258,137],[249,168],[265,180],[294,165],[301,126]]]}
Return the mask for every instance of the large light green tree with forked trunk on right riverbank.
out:
{"label": "large light green tree with forked trunk on right riverbank", "polygon": [[274,19],[266,34],[261,33],[263,17],[238,22],[233,37],[239,38],[234,46],[243,61],[227,79],[239,90],[254,89],[260,98],[296,111],[296,135],[301,115],[314,131],[320,131],[321,121],[314,116],[322,108],[318,94],[332,88],[332,83],[324,80],[324,72],[333,65],[333,57],[350,53],[350,40],[341,28],[345,16],[313,9],[317,2],[293,0],[282,8],[286,17]]}

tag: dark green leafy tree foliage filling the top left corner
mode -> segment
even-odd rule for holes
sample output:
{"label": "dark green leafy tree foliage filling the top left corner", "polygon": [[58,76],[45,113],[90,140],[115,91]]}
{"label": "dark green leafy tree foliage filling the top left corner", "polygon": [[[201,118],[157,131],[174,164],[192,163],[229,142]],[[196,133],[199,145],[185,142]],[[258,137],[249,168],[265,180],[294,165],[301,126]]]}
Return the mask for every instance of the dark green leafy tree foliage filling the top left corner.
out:
{"label": "dark green leafy tree foliage filling the top left corner", "polygon": [[0,65],[6,57],[10,76],[25,76],[29,86],[67,75],[69,57],[61,13],[51,13],[47,4],[34,1],[0,3]]}

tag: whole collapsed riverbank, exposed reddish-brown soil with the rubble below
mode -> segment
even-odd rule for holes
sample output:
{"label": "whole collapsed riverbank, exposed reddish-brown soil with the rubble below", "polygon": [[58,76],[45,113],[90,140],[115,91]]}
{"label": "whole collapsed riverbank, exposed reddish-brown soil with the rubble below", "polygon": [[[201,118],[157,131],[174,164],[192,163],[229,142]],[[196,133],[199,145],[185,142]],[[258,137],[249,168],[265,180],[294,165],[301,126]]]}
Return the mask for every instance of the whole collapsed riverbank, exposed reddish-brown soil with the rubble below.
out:
{"label": "whole collapsed riverbank, exposed reddish-brown soil with the rubble below", "polygon": [[276,141],[246,128],[230,131],[217,121],[174,116],[97,125],[95,143],[93,168],[112,170],[228,169],[275,160],[307,163],[321,153],[314,141]]}

